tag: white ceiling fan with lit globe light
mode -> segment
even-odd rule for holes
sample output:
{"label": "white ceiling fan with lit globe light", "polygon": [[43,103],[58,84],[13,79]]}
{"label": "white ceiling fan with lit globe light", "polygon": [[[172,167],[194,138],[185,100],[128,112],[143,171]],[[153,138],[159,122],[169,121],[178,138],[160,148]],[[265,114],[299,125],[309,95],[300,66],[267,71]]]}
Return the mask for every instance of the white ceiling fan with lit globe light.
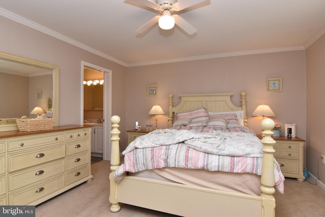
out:
{"label": "white ceiling fan with lit globe light", "polygon": [[[158,22],[158,25],[162,29],[171,29],[174,25],[178,25],[188,34],[193,34],[197,32],[197,29],[184,20],[179,15],[172,15],[174,11],[181,11],[185,8],[191,7],[193,5],[197,5],[206,0],[132,0],[133,2],[140,3],[149,8],[152,8],[156,11],[160,11],[162,15],[155,16],[148,22],[146,22],[143,26],[141,26],[136,32],[141,34],[149,29],[152,25]],[[156,2],[156,3],[155,3]]]}

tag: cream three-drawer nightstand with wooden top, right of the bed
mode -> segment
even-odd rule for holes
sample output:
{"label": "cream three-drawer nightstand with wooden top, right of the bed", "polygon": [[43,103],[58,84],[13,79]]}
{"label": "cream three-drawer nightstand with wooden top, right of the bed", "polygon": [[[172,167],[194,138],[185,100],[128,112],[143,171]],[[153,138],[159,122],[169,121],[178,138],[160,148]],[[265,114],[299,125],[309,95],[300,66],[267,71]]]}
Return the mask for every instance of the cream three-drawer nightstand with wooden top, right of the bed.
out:
{"label": "cream three-drawer nightstand with wooden top, right of the bed", "polygon": [[286,136],[272,136],[272,138],[276,141],[274,157],[279,163],[283,175],[304,182],[304,143],[306,140]]}

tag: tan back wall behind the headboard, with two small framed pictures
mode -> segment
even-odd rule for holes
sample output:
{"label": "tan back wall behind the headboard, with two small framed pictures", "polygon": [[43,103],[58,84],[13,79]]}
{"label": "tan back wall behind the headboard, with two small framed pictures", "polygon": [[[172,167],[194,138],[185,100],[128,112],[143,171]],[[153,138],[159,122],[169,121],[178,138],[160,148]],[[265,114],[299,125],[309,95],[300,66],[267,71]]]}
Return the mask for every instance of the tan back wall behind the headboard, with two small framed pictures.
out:
{"label": "tan back wall behind the headboard, with two small framed pictures", "polygon": [[[126,76],[126,127],[138,121],[144,127],[152,105],[159,104],[168,114],[168,94],[234,93],[240,106],[240,91],[247,91],[248,124],[261,133],[262,117],[251,114],[258,104],[269,104],[284,128],[296,123],[297,135],[306,138],[305,51],[225,57],[170,64],[128,67]],[[267,92],[267,78],[282,78],[282,92]],[[157,96],[147,96],[147,85],[157,85]],[[167,115],[158,116],[158,128],[167,127]]]}

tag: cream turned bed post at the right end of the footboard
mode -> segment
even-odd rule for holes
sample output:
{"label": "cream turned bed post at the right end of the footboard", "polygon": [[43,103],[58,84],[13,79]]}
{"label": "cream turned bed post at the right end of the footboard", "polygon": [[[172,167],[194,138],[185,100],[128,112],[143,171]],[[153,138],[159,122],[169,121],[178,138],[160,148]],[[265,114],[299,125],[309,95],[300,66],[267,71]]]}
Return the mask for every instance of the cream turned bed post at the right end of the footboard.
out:
{"label": "cream turned bed post at the right end of the footboard", "polygon": [[267,118],[261,122],[263,134],[265,135],[261,142],[263,143],[263,166],[261,175],[261,191],[262,191],[262,216],[271,217],[275,216],[275,199],[273,194],[275,193],[274,185],[274,156],[275,152],[273,146],[276,141],[271,137],[273,135],[272,129],[274,127],[274,121]]}

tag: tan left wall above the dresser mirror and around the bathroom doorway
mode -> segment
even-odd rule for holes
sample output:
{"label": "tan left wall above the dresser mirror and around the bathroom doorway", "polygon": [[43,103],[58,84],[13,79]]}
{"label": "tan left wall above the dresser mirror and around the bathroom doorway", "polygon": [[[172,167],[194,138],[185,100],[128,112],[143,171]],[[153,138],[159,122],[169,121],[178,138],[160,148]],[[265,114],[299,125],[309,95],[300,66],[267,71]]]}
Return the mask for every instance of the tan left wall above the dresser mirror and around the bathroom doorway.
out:
{"label": "tan left wall above the dresser mirror and around the bathroom doorway", "polygon": [[121,117],[125,131],[125,66],[2,16],[0,29],[6,32],[0,34],[1,51],[59,66],[59,125],[82,123],[81,61],[112,70],[112,114]]}

